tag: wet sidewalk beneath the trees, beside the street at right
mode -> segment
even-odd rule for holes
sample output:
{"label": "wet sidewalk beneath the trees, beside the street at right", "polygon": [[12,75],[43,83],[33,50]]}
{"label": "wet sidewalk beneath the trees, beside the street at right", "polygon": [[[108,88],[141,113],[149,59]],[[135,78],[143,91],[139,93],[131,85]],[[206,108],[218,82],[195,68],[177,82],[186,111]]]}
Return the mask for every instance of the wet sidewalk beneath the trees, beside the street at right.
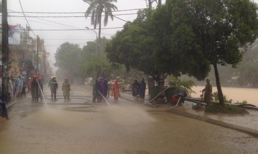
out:
{"label": "wet sidewalk beneath the trees, beside the street at right", "polygon": [[[148,97],[149,96],[146,96],[146,99],[148,99]],[[131,93],[122,93],[121,98],[135,102]],[[147,101],[144,102],[147,103]],[[154,110],[165,110],[167,108],[173,107],[171,104],[156,104],[155,106],[151,103],[148,104],[148,106],[153,107]],[[192,109],[192,102],[184,101],[184,105],[177,106],[170,112],[188,118],[206,121],[258,137],[258,111],[247,111],[249,112],[248,115],[231,115],[221,113],[211,114],[205,113],[202,109]]]}

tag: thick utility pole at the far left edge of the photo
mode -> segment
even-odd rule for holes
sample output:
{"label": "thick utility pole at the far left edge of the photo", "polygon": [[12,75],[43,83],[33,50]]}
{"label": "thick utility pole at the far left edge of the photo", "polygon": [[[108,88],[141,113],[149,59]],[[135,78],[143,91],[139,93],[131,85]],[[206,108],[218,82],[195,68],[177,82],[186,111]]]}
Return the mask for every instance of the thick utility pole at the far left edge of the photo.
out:
{"label": "thick utility pole at the far left edge of the photo", "polygon": [[4,102],[8,102],[8,23],[7,0],[2,0],[2,96]]}

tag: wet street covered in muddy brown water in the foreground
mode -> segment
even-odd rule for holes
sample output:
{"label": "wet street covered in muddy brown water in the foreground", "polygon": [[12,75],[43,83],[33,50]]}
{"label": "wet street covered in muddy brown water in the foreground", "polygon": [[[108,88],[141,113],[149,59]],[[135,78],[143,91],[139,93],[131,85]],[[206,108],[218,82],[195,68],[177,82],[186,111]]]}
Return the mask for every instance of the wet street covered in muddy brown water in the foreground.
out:
{"label": "wet street covered in muddy brown water in the foreground", "polygon": [[[72,95],[91,90],[72,88]],[[48,90],[44,90],[45,92]],[[257,154],[258,138],[148,106],[50,105],[23,99],[1,119],[1,154]],[[69,103],[83,103],[72,99]],[[53,103],[47,100],[47,103]],[[54,102],[55,103],[55,102]],[[68,103],[59,99],[56,103]],[[63,110],[68,107],[74,111]]]}

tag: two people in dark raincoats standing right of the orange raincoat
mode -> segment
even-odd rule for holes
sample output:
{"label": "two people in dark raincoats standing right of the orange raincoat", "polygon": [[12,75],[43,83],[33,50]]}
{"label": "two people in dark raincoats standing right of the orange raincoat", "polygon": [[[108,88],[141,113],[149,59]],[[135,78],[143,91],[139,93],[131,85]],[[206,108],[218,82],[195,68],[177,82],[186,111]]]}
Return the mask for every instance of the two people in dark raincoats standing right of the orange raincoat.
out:
{"label": "two people in dark raincoats standing right of the orange raincoat", "polygon": [[134,100],[137,101],[137,97],[140,97],[140,102],[143,102],[145,99],[146,83],[144,78],[141,79],[141,82],[138,83],[136,79],[132,83],[132,96]]}

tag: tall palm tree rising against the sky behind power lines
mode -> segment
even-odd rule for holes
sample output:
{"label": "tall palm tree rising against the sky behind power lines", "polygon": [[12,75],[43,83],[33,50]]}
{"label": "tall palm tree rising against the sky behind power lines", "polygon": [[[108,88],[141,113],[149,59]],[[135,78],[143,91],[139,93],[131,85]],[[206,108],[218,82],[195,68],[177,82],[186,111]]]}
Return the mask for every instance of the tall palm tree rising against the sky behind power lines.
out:
{"label": "tall palm tree rising against the sky behind power lines", "polygon": [[111,17],[113,20],[112,10],[116,11],[117,7],[112,4],[112,2],[117,2],[117,0],[83,0],[86,3],[90,4],[87,11],[85,12],[85,17],[91,16],[91,25],[94,25],[96,29],[98,25],[98,41],[97,41],[97,54],[99,55],[99,45],[100,45],[100,32],[101,32],[101,16],[102,13],[105,13],[104,16],[104,26],[107,26],[108,19]]}

